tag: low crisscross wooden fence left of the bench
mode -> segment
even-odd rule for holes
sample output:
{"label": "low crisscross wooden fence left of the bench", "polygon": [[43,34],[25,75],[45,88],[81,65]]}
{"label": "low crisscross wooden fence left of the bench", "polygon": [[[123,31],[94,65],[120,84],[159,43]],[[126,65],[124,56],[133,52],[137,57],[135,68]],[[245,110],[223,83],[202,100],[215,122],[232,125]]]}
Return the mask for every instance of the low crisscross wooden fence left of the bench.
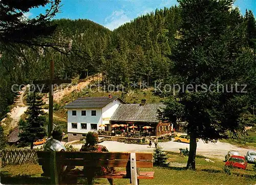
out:
{"label": "low crisscross wooden fence left of the bench", "polygon": [[31,149],[14,149],[14,150],[2,150],[2,167],[6,165],[20,165],[26,163],[37,164],[38,150]]}

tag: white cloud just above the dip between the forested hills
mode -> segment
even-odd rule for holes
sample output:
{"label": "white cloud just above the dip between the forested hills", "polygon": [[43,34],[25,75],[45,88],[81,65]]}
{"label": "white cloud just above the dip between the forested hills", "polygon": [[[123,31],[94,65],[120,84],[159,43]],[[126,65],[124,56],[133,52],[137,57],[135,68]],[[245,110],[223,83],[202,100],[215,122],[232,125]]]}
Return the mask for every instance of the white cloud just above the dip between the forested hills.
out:
{"label": "white cloud just above the dip between the forested hills", "polygon": [[114,30],[120,25],[130,22],[131,18],[129,18],[123,10],[116,10],[112,12],[112,14],[105,18],[105,27]]}

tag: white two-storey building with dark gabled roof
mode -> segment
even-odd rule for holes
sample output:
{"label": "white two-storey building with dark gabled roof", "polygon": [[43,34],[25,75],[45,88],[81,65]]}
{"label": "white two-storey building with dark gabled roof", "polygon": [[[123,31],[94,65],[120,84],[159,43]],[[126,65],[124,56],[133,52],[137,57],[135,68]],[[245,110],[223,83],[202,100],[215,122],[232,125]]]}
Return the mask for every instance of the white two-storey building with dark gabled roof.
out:
{"label": "white two-storey building with dark gabled roof", "polygon": [[[66,105],[68,109],[69,141],[79,140],[89,131],[110,130],[110,118],[121,103],[117,96],[84,97]],[[107,125],[100,127],[101,124]]]}

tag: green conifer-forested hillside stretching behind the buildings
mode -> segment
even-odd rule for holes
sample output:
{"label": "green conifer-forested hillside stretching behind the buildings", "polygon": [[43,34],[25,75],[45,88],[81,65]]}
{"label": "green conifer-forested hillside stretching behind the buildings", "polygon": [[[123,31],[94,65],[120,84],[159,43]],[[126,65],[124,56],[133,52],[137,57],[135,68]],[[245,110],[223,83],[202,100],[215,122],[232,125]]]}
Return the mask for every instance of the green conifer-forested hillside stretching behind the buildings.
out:
{"label": "green conifer-forested hillside stretching behind the buildings", "polygon": [[[252,12],[243,20],[248,22],[248,42],[253,45],[255,22]],[[242,20],[242,21],[243,21]],[[0,63],[0,118],[12,104],[13,84],[28,84],[49,77],[49,61],[55,62],[55,78],[80,78],[102,73],[102,84],[123,85],[125,90],[153,86],[172,77],[172,50],[181,38],[180,8],[177,6],[142,15],[130,23],[110,31],[87,19],[59,19],[52,36],[69,44],[69,55],[53,49],[20,48],[22,55],[3,53]],[[137,86],[131,87],[131,84]],[[142,88],[143,88],[142,87]]]}

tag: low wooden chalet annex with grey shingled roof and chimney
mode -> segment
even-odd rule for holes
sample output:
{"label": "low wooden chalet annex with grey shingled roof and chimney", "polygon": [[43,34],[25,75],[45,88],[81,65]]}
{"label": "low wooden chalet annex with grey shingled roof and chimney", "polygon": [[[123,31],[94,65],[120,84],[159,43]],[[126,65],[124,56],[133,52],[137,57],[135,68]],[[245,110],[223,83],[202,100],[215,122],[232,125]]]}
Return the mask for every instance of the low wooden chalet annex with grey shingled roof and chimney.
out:
{"label": "low wooden chalet annex with grey shingled roof and chimney", "polygon": [[143,131],[143,126],[150,126],[152,136],[166,135],[171,131],[172,125],[158,119],[158,110],[161,111],[165,107],[164,104],[146,103],[145,100],[140,104],[119,104],[110,122],[112,125],[125,124],[127,127],[135,125],[138,131]]}

